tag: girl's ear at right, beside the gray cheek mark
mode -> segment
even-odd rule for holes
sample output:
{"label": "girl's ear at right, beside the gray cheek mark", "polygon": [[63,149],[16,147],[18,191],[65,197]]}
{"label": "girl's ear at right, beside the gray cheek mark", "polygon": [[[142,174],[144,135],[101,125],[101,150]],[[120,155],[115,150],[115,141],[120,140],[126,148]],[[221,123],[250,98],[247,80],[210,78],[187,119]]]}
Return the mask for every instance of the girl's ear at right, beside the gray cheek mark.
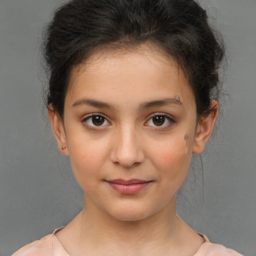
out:
{"label": "girl's ear at right, beside the gray cheek mark", "polygon": [[218,102],[216,100],[211,100],[210,105],[211,109],[208,115],[206,117],[201,117],[196,127],[196,134],[193,144],[193,153],[195,154],[199,154],[203,151],[218,116]]}

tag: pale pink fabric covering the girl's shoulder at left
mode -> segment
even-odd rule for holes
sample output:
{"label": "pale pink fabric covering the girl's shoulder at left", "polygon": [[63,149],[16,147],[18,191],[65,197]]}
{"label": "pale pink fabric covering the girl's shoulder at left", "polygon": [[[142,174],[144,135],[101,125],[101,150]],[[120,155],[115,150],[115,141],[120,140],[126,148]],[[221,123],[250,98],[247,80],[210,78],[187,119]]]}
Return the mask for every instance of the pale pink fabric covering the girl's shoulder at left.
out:
{"label": "pale pink fabric covering the girl's shoulder at left", "polygon": [[48,234],[40,240],[31,242],[11,256],[69,256],[64,248],[58,242],[54,234]]}

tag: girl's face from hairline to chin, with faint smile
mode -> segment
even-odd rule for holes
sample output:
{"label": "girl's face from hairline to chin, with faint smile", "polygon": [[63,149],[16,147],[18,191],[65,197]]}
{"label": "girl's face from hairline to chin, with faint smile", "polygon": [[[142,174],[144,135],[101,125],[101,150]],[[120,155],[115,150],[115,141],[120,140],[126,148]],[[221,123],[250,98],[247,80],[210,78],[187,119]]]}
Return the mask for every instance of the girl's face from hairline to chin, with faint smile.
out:
{"label": "girl's face from hairline to chin, with faint smile", "polygon": [[55,123],[85,207],[120,220],[173,208],[199,148],[189,84],[174,61],[145,45],[95,54],[74,69]]}

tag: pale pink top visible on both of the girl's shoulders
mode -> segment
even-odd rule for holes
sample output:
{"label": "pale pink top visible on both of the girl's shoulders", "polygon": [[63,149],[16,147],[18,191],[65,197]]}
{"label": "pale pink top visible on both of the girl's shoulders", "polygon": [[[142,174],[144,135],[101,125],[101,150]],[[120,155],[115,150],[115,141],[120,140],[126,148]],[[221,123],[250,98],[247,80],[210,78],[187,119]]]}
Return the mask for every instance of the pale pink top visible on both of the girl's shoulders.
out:
{"label": "pale pink top visible on both of the girl's shoulders", "polygon": [[[25,245],[12,254],[12,256],[70,256],[54,235],[58,230],[56,229],[52,234],[48,234],[40,240]],[[209,242],[205,235],[201,235],[205,242],[193,256],[242,256],[238,252],[228,249],[223,245]]]}

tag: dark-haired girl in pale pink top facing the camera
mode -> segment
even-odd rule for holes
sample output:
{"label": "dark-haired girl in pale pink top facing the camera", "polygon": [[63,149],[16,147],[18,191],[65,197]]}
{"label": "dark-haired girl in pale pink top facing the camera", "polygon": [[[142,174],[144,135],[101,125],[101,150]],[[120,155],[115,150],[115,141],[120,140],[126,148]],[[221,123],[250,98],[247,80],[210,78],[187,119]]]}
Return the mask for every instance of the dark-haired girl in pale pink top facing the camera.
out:
{"label": "dark-haired girl in pale pink top facing the camera", "polygon": [[218,114],[223,47],[193,0],[71,0],[47,28],[47,108],[84,209],[23,255],[240,255],[175,213]]}

